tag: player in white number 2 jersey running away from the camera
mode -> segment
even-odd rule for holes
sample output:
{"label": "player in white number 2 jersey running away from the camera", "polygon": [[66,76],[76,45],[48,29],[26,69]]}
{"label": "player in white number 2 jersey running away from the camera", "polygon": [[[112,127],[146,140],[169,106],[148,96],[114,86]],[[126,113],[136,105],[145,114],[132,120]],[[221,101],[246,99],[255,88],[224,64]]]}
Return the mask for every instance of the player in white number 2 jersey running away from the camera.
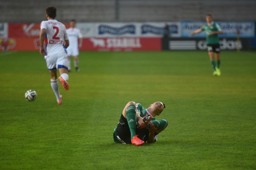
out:
{"label": "player in white number 2 jersey running away from the camera", "polygon": [[[62,104],[62,95],[59,94],[57,69],[59,69],[59,81],[64,89],[69,90],[68,57],[66,48],[69,46],[69,36],[64,24],[58,22],[56,8],[46,8],[47,21],[41,22],[40,53],[44,56],[47,68],[50,71],[51,87],[59,105]],[[44,46],[45,43],[45,46]]]}

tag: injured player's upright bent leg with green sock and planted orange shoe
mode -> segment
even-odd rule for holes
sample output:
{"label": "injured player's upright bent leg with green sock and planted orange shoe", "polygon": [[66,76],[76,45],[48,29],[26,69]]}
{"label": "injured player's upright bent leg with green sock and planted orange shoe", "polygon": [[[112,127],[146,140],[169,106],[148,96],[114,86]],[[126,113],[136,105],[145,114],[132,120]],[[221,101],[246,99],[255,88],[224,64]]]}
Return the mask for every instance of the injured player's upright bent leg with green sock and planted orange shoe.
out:
{"label": "injured player's upright bent leg with green sock and planted orange shoe", "polygon": [[127,119],[128,126],[131,132],[131,141],[134,145],[141,145],[144,143],[143,140],[140,140],[136,135],[136,103],[128,102],[123,109],[123,117]]}

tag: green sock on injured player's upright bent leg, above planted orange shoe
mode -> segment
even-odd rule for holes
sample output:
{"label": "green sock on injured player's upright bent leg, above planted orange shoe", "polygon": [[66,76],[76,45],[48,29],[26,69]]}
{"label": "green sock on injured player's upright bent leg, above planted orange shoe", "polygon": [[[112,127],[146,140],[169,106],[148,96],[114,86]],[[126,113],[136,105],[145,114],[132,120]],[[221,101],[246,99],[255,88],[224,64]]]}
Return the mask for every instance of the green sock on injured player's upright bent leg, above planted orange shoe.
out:
{"label": "green sock on injured player's upright bent leg, above planted orange shoe", "polygon": [[130,105],[126,109],[126,119],[131,131],[131,139],[136,136],[136,110],[134,105]]}

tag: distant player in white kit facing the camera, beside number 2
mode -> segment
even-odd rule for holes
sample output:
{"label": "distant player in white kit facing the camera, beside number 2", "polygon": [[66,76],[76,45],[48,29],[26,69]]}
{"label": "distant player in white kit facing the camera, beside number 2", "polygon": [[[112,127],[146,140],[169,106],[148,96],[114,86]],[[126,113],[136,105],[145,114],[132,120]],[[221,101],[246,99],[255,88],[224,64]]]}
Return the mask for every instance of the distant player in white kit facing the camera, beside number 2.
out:
{"label": "distant player in white kit facing the camera, beside number 2", "polygon": [[[70,56],[74,57],[74,67],[77,72],[79,72],[78,68],[78,55],[79,49],[83,44],[83,35],[81,31],[76,27],[76,20],[72,19],[70,21],[70,28],[67,29],[67,33],[69,34],[69,47],[67,48],[68,58],[69,58],[69,71],[71,70],[71,62]],[[79,41],[78,41],[79,40]]]}

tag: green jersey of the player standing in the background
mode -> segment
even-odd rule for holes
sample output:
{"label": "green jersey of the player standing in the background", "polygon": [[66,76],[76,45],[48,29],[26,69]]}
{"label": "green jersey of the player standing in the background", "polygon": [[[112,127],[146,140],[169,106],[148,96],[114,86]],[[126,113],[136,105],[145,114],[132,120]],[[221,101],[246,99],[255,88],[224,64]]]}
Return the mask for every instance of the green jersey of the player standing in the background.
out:
{"label": "green jersey of the player standing in the background", "polygon": [[209,33],[213,31],[221,31],[221,27],[219,26],[219,24],[215,22],[211,22],[210,24],[206,23],[206,24],[203,24],[203,26],[201,27],[201,30],[206,32],[207,44],[219,44],[218,34],[209,35]]}

